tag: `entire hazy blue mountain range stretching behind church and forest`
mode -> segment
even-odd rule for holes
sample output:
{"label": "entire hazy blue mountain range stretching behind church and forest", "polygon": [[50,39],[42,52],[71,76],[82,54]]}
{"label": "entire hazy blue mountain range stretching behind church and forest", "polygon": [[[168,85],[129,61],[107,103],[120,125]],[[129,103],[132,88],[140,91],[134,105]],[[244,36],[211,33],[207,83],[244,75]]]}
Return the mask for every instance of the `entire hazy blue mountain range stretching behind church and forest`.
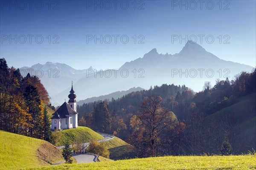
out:
{"label": "entire hazy blue mountain range stretching behind church and forest", "polygon": [[[51,102],[59,104],[67,99],[71,81],[74,82],[77,99],[82,100],[124,91],[131,87],[148,89],[151,85],[172,83],[185,84],[194,91],[201,91],[205,81],[214,85],[216,79],[233,79],[241,71],[251,72],[253,69],[249,65],[220,59],[192,41],[188,41],[179,53],[173,55],[158,54],[154,48],[142,58],[125,62],[119,70],[97,71],[92,67],[76,70],[68,65],[52,62],[36,64],[30,68],[44,71],[41,81],[52,97]],[[49,69],[52,72],[50,78]],[[56,74],[57,70],[59,77],[54,78],[53,74]]]}

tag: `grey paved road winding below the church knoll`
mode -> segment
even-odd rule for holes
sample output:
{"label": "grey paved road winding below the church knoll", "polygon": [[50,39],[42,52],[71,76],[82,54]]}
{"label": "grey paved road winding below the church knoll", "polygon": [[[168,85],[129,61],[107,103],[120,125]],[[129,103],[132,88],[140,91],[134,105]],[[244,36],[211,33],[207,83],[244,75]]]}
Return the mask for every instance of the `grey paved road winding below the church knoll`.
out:
{"label": "grey paved road winding below the church knoll", "polygon": [[[101,136],[103,136],[104,139],[98,140],[98,142],[105,142],[105,141],[111,140],[115,137],[111,134],[106,134],[106,133],[99,133],[99,134]],[[89,144],[90,144],[89,142],[83,143],[82,150],[85,150],[89,146]],[[70,145],[70,147],[72,147],[72,144]],[[62,148],[64,148],[64,146],[58,146],[57,148],[62,149]],[[76,159],[77,163],[96,162],[96,159],[97,159],[97,156],[95,154],[88,154],[88,153],[76,153],[76,154],[73,154],[72,156]],[[62,164],[64,162],[65,161],[59,161],[59,162],[56,162],[55,164]]]}

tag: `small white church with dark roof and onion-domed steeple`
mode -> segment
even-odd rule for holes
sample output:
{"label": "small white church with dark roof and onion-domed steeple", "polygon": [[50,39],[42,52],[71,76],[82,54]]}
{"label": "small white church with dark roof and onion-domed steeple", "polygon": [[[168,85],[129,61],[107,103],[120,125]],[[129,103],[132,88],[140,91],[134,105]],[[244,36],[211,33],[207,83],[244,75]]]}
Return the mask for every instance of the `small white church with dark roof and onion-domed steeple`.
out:
{"label": "small white church with dark roof and onion-domed steeple", "polygon": [[76,112],[76,94],[73,90],[73,82],[68,103],[65,101],[52,115],[52,130],[55,129],[72,129],[78,127]]}

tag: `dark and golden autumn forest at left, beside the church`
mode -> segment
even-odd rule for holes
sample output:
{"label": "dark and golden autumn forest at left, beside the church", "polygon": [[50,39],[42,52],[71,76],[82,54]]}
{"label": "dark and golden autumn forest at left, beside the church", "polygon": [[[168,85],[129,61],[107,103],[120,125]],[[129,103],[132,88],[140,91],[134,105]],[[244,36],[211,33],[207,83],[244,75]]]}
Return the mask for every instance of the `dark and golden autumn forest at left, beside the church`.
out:
{"label": "dark and golden autumn forest at left, beside the church", "polygon": [[51,141],[49,96],[37,76],[0,59],[0,130]]}

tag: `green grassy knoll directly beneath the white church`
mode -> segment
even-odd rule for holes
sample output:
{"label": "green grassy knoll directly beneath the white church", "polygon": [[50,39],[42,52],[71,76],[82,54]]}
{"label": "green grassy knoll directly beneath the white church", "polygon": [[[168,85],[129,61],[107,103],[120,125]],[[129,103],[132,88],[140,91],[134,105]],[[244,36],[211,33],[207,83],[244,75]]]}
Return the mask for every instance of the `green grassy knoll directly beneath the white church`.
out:
{"label": "green grassy knoll directly beneath the white church", "polygon": [[69,142],[70,144],[76,143],[76,140],[80,140],[82,142],[90,142],[91,140],[100,140],[103,137],[91,130],[89,127],[79,126],[76,129],[66,129],[61,132],[61,140],[58,142],[57,146],[63,146],[65,142]]}

